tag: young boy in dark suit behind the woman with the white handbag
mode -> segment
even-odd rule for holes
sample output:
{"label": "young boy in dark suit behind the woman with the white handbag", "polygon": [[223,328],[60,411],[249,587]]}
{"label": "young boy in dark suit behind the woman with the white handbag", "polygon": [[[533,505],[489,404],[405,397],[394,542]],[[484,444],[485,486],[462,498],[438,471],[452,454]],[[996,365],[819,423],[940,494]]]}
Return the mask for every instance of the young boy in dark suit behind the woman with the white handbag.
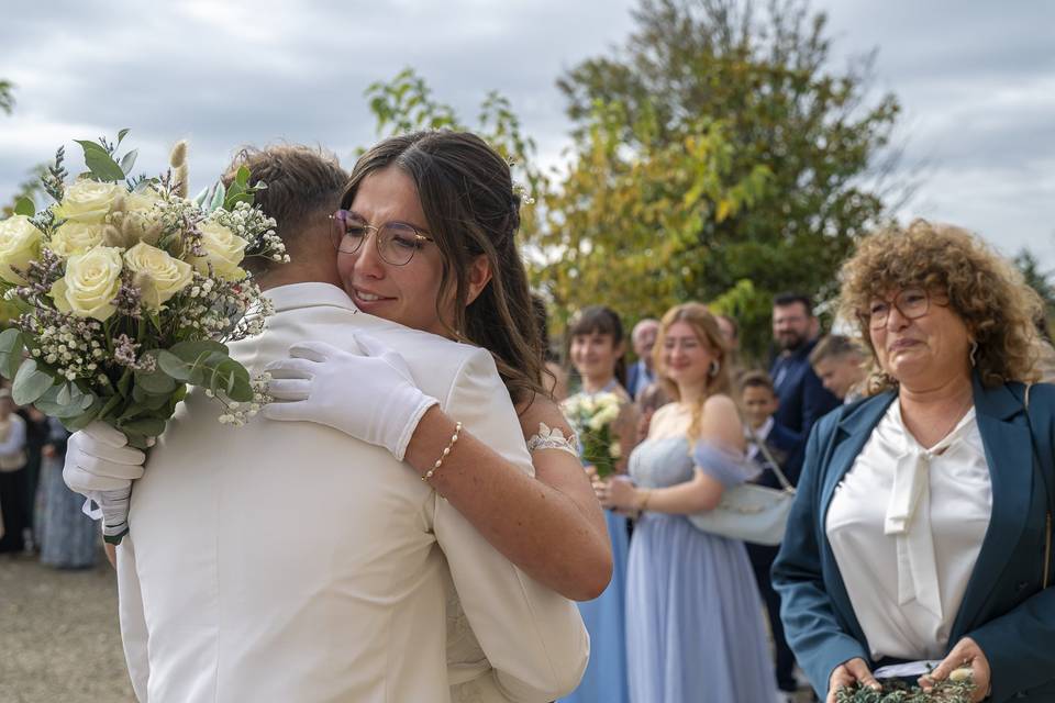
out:
{"label": "young boy in dark suit behind the woman with the white handbag", "polygon": [[[763,472],[755,482],[769,488],[780,488],[780,480],[773,471],[769,459],[758,443],[766,445],[769,456],[780,465],[780,470],[792,484],[798,482],[802,469],[802,437],[778,423],[774,413],[779,401],[773,389],[773,381],[765,371],[748,371],[740,381],[741,405],[749,426],[747,434],[747,456]],[[777,558],[779,547],[747,544],[747,556],[755,571],[758,592],[766,603],[769,626],[776,649],[777,689],[787,699],[798,689],[795,680],[795,655],[784,638],[784,625],[780,622],[780,596],[773,590],[769,569]]]}

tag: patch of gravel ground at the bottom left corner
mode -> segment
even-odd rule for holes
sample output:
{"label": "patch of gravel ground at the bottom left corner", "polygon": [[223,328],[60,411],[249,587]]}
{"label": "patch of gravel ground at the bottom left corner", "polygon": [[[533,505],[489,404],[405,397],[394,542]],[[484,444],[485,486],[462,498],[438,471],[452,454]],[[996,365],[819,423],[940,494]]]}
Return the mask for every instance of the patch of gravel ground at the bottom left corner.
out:
{"label": "patch of gravel ground at the bottom left corner", "polygon": [[0,703],[134,701],[102,551],[75,571],[0,555]]}

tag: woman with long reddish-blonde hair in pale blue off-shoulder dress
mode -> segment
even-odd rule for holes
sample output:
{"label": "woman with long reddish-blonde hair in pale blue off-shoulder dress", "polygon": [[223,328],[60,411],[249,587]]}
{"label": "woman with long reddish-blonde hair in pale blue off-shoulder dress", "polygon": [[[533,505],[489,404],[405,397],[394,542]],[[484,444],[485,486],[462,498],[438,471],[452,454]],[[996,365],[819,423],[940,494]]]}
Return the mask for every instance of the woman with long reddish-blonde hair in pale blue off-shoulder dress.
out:
{"label": "woman with long reddish-blonde hair in pale blue off-shoulder dress", "polygon": [[771,701],[773,665],[744,544],[686,517],[713,509],[752,473],[725,344],[707,308],[686,303],[664,315],[654,354],[675,402],[656,411],[630,457],[633,483],[597,484],[607,507],[641,512],[626,568],[630,698]]}

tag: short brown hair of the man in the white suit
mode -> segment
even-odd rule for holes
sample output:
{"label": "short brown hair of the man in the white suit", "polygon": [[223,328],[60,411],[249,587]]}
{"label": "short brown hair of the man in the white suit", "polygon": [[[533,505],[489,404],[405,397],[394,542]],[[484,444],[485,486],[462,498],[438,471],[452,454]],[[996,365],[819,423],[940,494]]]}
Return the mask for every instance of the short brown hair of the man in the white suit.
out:
{"label": "short brown hair of the man in the white suit", "polygon": [[255,193],[254,203],[270,217],[287,246],[296,245],[301,232],[321,224],[341,204],[348,174],[337,157],[321,147],[278,144],[238,149],[223,176],[230,185],[238,168],[249,169],[249,183],[267,188]]}

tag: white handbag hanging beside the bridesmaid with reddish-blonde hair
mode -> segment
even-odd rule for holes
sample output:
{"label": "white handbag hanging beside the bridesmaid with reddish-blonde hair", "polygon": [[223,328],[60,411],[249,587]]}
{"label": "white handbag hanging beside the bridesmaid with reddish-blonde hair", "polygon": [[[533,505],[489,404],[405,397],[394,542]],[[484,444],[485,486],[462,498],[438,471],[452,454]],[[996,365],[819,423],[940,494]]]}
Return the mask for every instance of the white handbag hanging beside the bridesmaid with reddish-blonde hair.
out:
{"label": "white handbag hanging beside the bridesmaid with reddish-blonde hair", "polygon": [[766,443],[759,442],[754,432],[751,436],[773,468],[781,488],[741,483],[722,492],[718,507],[693,513],[688,517],[689,522],[702,532],[775,547],[784,539],[791,501],[795,499],[795,487],[780,470],[780,465],[773,458]]}

